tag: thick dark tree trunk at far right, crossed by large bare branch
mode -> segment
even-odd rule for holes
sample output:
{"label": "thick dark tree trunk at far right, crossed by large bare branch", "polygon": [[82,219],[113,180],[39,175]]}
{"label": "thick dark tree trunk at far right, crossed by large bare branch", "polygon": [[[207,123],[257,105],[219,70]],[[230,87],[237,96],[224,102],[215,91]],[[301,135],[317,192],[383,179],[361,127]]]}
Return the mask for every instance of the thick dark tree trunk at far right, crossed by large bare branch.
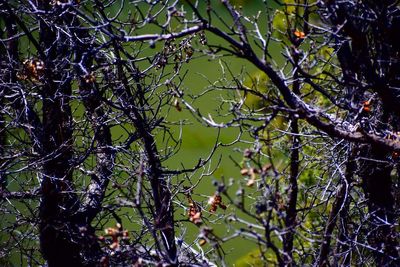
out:
{"label": "thick dark tree trunk at far right, crossed by large bare branch", "polygon": [[[326,5],[332,24],[341,25],[338,59],[348,85],[349,98],[351,96],[352,99],[349,107],[353,116],[361,116],[361,127],[368,132],[380,131],[379,125],[383,124],[383,127],[390,125],[392,130],[398,130],[398,42],[393,36],[398,36],[399,19],[393,1],[362,1],[357,6],[348,2],[326,1]],[[374,18],[368,20],[370,11],[374,12]],[[360,18],[355,16],[362,12],[364,15]],[[365,98],[367,90],[362,81],[376,93],[377,102],[382,102],[382,106],[374,106],[373,114],[359,113],[363,101],[368,100],[362,98]],[[373,145],[365,145],[359,152],[364,159],[359,162],[359,175],[370,216],[367,239],[373,248],[377,266],[399,264],[394,229],[397,218],[392,195],[391,154],[392,151]]]}

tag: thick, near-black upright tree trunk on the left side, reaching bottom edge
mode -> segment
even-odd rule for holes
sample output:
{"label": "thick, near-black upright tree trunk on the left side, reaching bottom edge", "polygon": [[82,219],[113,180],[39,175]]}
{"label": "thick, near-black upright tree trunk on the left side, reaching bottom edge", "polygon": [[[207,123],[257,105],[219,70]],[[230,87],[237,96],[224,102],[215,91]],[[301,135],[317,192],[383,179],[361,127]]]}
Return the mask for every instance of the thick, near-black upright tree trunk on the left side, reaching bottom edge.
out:
{"label": "thick, near-black upright tree trunk on the left side, reaching bottom edge", "polygon": [[[50,9],[48,3],[41,3],[40,7]],[[85,244],[81,242],[80,233],[84,228],[73,220],[79,203],[72,182],[71,80],[66,76],[70,55],[64,45],[66,37],[57,36],[49,21],[40,22],[40,47],[44,51],[44,58],[40,60],[45,66],[42,77],[40,247],[49,266],[85,266],[81,258]],[[85,234],[88,234],[87,231]]]}

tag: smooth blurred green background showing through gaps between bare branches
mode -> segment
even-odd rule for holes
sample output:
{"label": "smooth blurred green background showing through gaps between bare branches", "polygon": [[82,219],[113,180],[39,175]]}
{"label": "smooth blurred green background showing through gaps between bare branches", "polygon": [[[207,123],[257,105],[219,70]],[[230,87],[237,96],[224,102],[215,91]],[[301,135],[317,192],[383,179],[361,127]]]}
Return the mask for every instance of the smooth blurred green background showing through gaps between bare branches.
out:
{"label": "smooth blurred green background showing through gaps between bare branches", "polygon": [[[219,2],[219,1],[216,1]],[[264,13],[261,13],[260,19],[259,19],[259,26],[260,26],[260,31],[261,32],[266,32],[267,30],[267,14],[265,13],[265,6],[262,3],[263,1],[261,0],[236,0],[232,1],[237,5],[242,6],[242,10],[245,14],[247,15],[256,15],[259,11],[262,11]],[[276,5],[275,1],[271,1],[272,5]],[[226,15],[226,10],[222,6],[222,4],[215,4],[213,6],[215,8],[215,11],[222,17],[227,17]],[[116,7],[117,8],[117,7]],[[186,6],[186,10],[189,10],[189,8]],[[124,11],[123,13],[127,12]],[[269,14],[272,15],[272,14]],[[229,19],[228,19],[229,20]],[[222,26],[220,21],[214,20],[214,25],[215,26]],[[146,28],[142,29],[141,31],[146,31]],[[216,38],[212,34],[206,34],[208,43],[209,44],[224,44],[224,41]],[[23,45],[23,44],[22,44]],[[161,44],[156,44],[156,48],[151,49],[151,48],[146,48],[148,49],[148,53],[154,53],[154,51],[157,51],[157,49],[161,49],[162,45]],[[271,48],[271,51],[275,51],[275,53],[279,53],[279,48],[276,46],[275,48]],[[210,60],[208,57],[197,57],[199,56],[200,53],[195,54],[194,58],[191,59],[191,61],[188,64],[184,64],[182,73],[185,73],[187,71],[187,75],[185,77],[185,80],[182,84],[181,90],[185,91],[185,99],[189,100],[190,95],[197,95],[205,90],[205,88],[210,86],[210,83],[216,82],[218,79],[220,79],[223,75],[223,69],[225,70],[226,74],[226,79],[231,79],[229,72],[227,71],[227,68],[229,67],[229,71],[232,72],[233,75],[235,74],[242,74],[242,73],[247,73],[248,75],[254,75],[257,73],[257,70],[249,65],[246,60],[244,59],[238,59],[238,58],[233,58],[233,57],[222,57],[220,59],[215,59],[215,60]],[[201,113],[205,116],[208,114],[211,114],[215,121],[217,123],[219,122],[225,122],[232,118],[231,116],[226,116],[226,117],[219,117],[219,107],[221,106],[222,100],[223,99],[235,99],[237,97],[237,92],[236,91],[222,91],[222,90],[213,90],[204,96],[200,97],[199,99],[196,99],[194,102],[191,104],[198,108]],[[172,103],[171,103],[172,104]],[[219,135],[219,142],[228,144],[233,142],[238,138],[239,135],[239,130],[235,128],[229,128],[229,129],[215,129],[211,127],[206,127],[205,125],[200,124],[196,119],[194,119],[193,115],[184,108],[183,105],[183,110],[181,112],[171,109],[168,117],[166,118],[168,121],[175,121],[175,122],[182,122],[181,126],[177,125],[172,127],[172,131],[175,133],[175,136],[181,135],[181,147],[179,151],[177,151],[177,154],[167,161],[164,162],[165,166],[171,168],[171,169],[180,169],[180,168],[192,168],[197,164],[199,161],[199,158],[205,159],[208,157],[211,149],[213,148],[216,138],[218,135],[218,131],[220,131]],[[223,110],[227,111],[228,106],[225,105]],[[113,135],[118,136],[118,133],[113,133]],[[162,138],[162,137],[158,137]],[[248,135],[244,133],[244,135],[241,137],[242,140],[247,140],[251,142],[249,139]],[[161,139],[160,139],[161,140]],[[221,181],[222,177],[225,178],[225,181],[228,181],[229,179],[233,179],[234,181],[238,181],[240,179],[243,179],[243,177],[240,174],[240,168],[236,166],[233,162],[232,159],[234,159],[236,162],[241,162],[242,161],[242,150],[251,147],[251,144],[246,144],[243,142],[236,143],[234,146],[227,146],[227,147],[219,147],[218,150],[216,151],[212,161],[210,161],[210,164],[207,165],[207,169],[209,168],[210,170],[215,168],[215,172],[210,175],[210,176],[205,176],[203,177],[201,183],[199,186],[195,189],[194,197],[198,201],[202,201],[203,203],[207,202],[207,197],[212,196],[216,190],[215,186],[213,185],[213,181]],[[162,149],[162,147],[159,146],[159,149]],[[219,162],[219,159],[221,160]],[[197,176],[196,176],[197,175]],[[193,179],[196,179],[196,177],[200,176],[200,173],[197,173]],[[232,187],[230,190],[231,194],[234,194],[234,191],[237,187]],[[16,204],[16,207],[20,207],[23,209],[22,205]],[[186,208],[186,207],[185,207]],[[228,215],[230,213],[234,213],[235,210],[232,207],[228,207],[228,209],[225,212],[222,212],[221,210],[218,211],[219,214],[221,215]],[[219,215],[205,215],[208,216],[210,220],[215,220]],[[177,208],[176,210],[176,215],[177,217],[182,216],[186,217],[187,211],[182,207],[182,208]],[[222,217],[221,217],[222,218]],[[215,220],[215,224],[212,224],[212,226],[215,229],[215,233],[217,236],[227,236],[231,233],[228,233],[228,227],[226,225],[226,221],[221,219],[221,220]],[[129,225],[125,225],[127,229],[129,229]],[[137,226],[133,226],[137,227]],[[189,237],[189,240],[195,240],[199,233],[198,227],[190,224],[185,224],[185,227],[187,229],[177,229],[177,235],[183,234],[184,232],[186,235]],[[3,233],[4,234],[4,233]],[[207,245],[205,246],[205,250],[207,250]],[[235,239],[232,239],[223,245],[223,249],[226,253],[225,255],[225,261],[228,266],[251,266],[251,263],[249,259],[252,256],[245,257],[246,255],[254,254],[254,257],[257,258],[257,253],[254,252],[257,250],[256,244],[254,242],[248,241],[246,239],[243,239],[241,237],[237,237]],[[245,257],[243,259],[243,257]],[[15,256],[15,262],[16,266],[18,266],[19,261],[19,255]],[[256,262],[256,261],[254,261]],[[253,263],[254,263],[253,262]],[[218,266],[220,266],[219,263],[217,263]]]}

